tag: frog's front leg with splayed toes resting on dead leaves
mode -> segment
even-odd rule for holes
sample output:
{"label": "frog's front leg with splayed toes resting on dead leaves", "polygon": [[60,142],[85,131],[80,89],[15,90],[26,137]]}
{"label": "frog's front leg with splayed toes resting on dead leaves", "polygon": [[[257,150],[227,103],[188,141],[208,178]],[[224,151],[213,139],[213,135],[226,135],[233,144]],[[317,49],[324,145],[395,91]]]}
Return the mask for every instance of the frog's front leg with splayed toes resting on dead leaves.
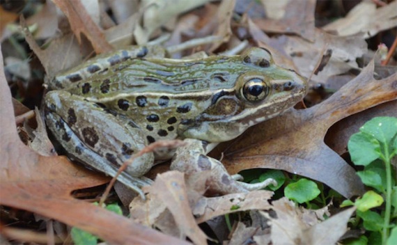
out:
{"label": "frog's front leg with splayed toes resting on dead leaves", "polygon": [[185,139],[186,145],[178,148],[171,163],[172,170],[187,174],[210,171],[207,180],[209,191],[221,194],[247,192],[263,189],[269,184],[277,185],[273,179],[256,184],[237,181],[240,175],[230,175],[217,159],[208,157],[207,143],[196,139]]}

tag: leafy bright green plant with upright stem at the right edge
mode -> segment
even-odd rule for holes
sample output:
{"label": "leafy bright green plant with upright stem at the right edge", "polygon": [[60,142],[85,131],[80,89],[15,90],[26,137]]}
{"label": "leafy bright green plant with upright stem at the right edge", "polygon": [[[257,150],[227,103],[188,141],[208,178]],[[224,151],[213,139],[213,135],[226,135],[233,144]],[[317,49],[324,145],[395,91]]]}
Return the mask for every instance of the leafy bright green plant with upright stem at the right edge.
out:
{"label": "leafy bright green plant with upright stem at the right edge", "polygon": [[[359,131],[350,137],[348,150],[353,163],[364,166],[363,171],[357,172],[361,181],[373,190],[354,203],[345,200],[341,207],[357,207],[355,223],[363,221],[369,244],[397,244],[397,118],[373,118]],[[363,244],[357,242],[348,244]]]}

